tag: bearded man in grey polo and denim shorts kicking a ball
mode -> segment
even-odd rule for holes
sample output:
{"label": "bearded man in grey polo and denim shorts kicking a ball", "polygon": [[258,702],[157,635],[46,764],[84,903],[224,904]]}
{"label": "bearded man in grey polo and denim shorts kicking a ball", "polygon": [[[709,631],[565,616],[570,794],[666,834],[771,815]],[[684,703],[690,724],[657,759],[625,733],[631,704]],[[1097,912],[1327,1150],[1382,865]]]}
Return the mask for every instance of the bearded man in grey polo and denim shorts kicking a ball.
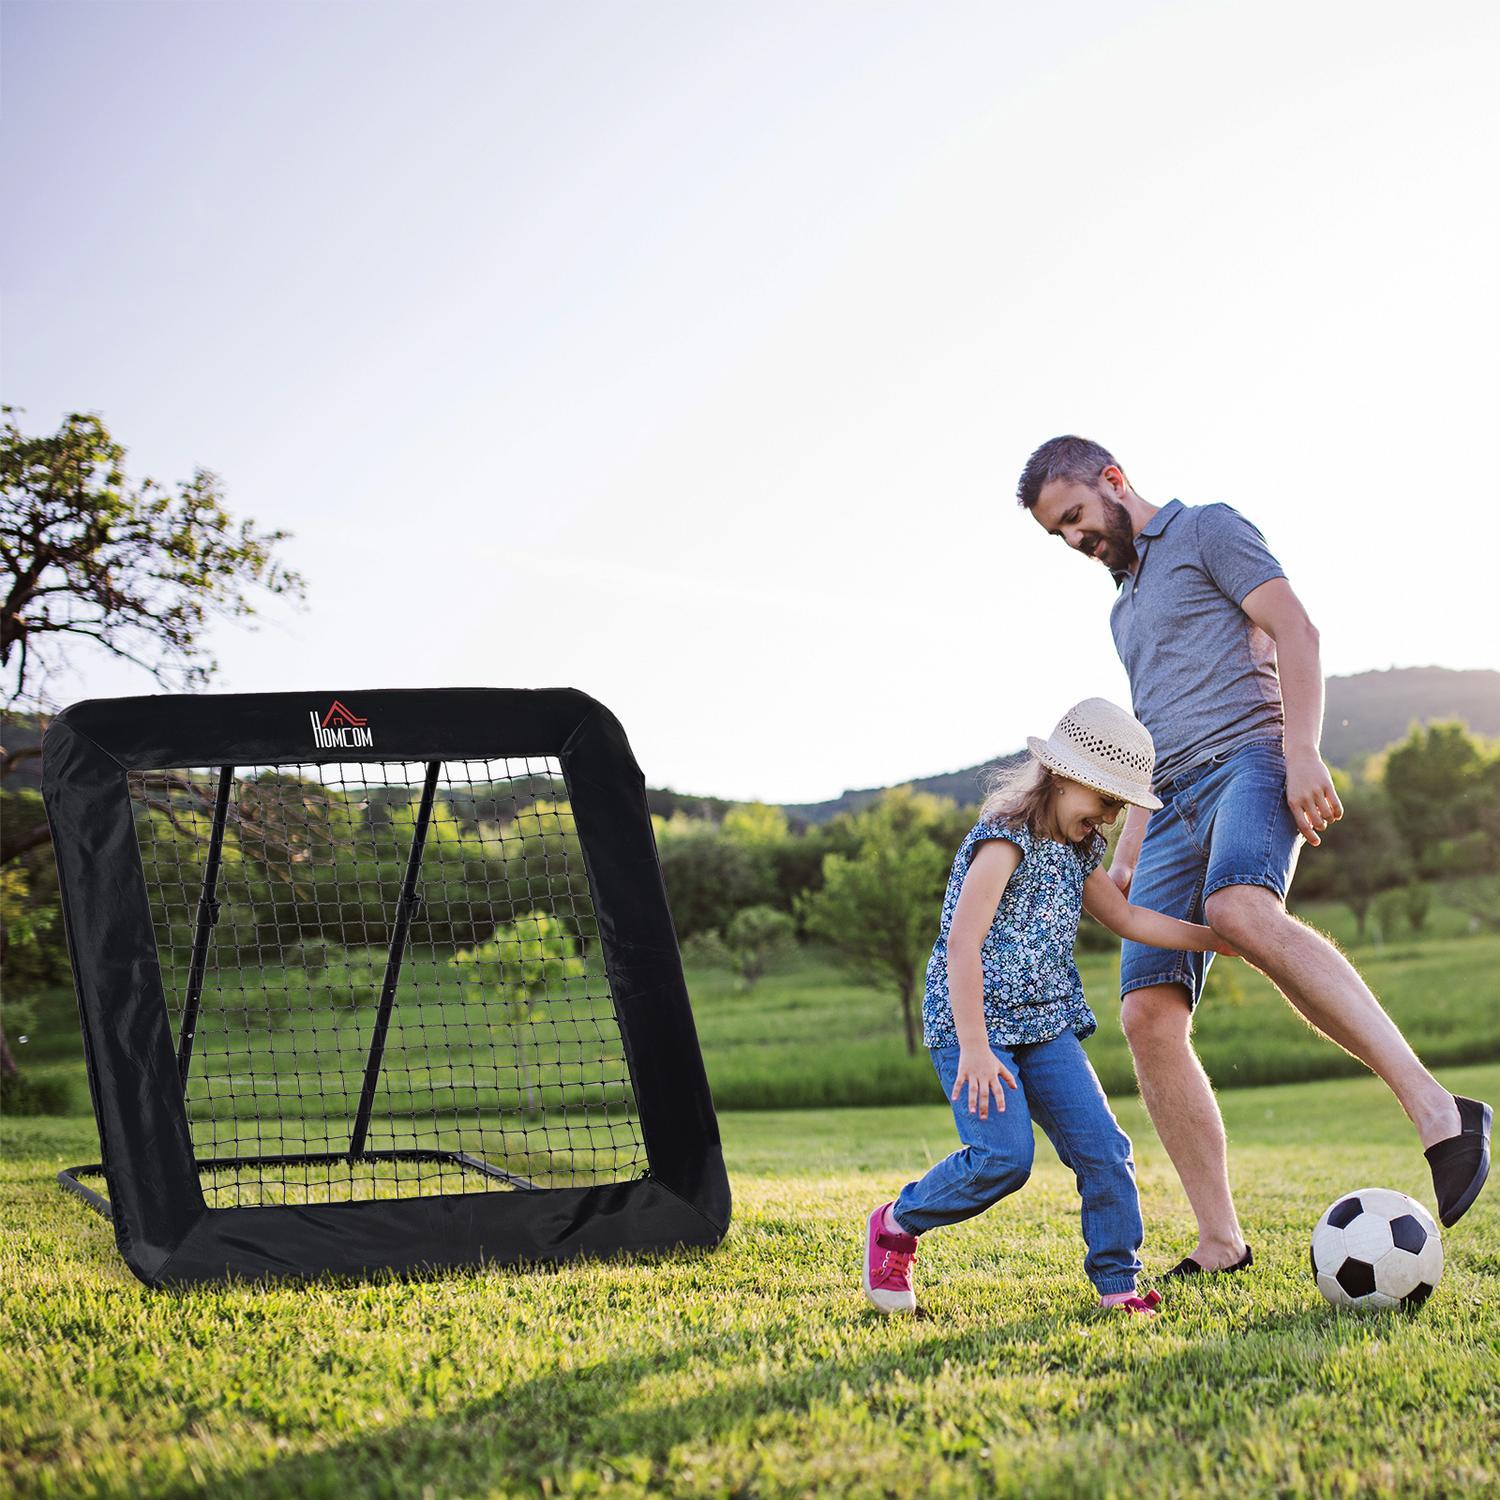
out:
{"label": "bearded man in grey polo and denim shorts kicking a ball", "polygon": [[[1208,922],[1320,1032],[1377,1072],[1425,1148],[1438,1216],[1454,1224],[1490,1170],[1488,1104],[1449,1094],[1348,960],[1288,915],[1304,842],[1344,816],[1318,752],[1318,632],[1264,537],[1228,506],[1152,506],[1096,442],[1064,436],[1017,489],[1036,524],[1110,570],[1110,628],[1132,711],[1156,746],[1110,876],[1143,906]],[[1224,1122],[1190,1040],[1212,954],[1125,942],[1122,1024],[1140,1092],[1198,1221],[1168,1275],[1251,1264],[1226,1168]]]}

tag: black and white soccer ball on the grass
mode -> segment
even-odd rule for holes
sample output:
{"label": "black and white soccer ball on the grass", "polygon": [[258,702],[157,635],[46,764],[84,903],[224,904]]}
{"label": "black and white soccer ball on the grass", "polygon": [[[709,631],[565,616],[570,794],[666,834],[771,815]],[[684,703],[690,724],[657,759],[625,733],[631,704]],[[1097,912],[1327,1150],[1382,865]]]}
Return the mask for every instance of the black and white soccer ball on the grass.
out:
{"label": "black and white soccer ball on the grass", "polygon": [[1317,1221],[1312,1275],[1338,1308],[1420,1306],[1443,1275],[1443,1236],[1416,1198],[1360,1188]]}

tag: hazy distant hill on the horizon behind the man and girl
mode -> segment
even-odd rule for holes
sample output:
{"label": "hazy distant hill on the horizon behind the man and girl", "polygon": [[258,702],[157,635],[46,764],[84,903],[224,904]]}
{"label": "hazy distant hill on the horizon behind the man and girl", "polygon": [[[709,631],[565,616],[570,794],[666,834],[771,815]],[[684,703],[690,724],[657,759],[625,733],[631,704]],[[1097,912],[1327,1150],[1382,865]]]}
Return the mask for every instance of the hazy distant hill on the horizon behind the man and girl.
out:
{"label": "hazy distant hill on the horizon behind the man and girl", "polygon": [[[1392,668],[1330,676],[1324,684],[1323,759],[1341,770],[1359,770],[1370,756],[1406,740],[1413,723],[1458,718],[1468,732],[1500,736],[1500,672],[1454,672],[1442,666]],[[1048,726],[1050,728],[1050,726]],[[960,806],[980,800],[980,774],[1010,765],[1024,750],[1012,750],[984,765],[944,771],[910,782],[918,792],[951,796]],[[788,818],[824,824],[838,813],[873,802],[885,788],[850,789],[826,802],[788,804]]]}

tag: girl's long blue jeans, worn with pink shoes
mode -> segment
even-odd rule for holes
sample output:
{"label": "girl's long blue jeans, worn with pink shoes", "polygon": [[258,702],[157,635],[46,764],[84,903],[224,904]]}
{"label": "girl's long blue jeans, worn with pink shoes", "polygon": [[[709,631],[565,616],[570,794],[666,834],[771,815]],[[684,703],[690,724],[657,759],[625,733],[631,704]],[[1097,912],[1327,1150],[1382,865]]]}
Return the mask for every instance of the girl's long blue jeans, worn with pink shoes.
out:
{"label": "girl's long blue jeans, worn with pink shoes", "polygon": [[[1110,1112],[1104,1089],[1072,1032],[1029,1047],[994,1053],[1016,1078],[1005,1089],[1005,1110],[990,1101],[988,1119],[969,1113],[964,1094],[952,1104],[962,1150],[945,1156],[920,1182],[908,1182],[896,1200],[896,1222],[908,1234],[939,1224],[958,1224],[1014,1192],[1032,1166],[1032,1120],[1072,1168],[1083,1198],[1083,1269],[1101,1294],[1134,1292],[1140,1275],[1140,1198],[1130,1137]],[[933,1066],[944,1094],[952,1095],[958,1047],[933,1047]]]}

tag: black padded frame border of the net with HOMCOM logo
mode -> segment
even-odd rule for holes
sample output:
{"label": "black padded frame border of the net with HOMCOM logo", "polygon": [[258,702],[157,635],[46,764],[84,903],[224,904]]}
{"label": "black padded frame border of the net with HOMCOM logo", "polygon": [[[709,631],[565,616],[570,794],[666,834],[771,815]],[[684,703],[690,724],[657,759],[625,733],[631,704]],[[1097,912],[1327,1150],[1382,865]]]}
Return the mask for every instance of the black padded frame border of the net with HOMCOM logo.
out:
{"label": "black padded frame border of the net with HOMCOM logo", "polygon": [[[370,748],[314,746],[339,700]],[[129,777],[140,771],[550,758],[584,855],[645,1148],[633,1180],[210,1206],[195,1158]],[[614,714],[573,688],[162,694],[64,710],[42,790],[116,1242],[148,1286],[366,1275],[714,1245],[730,1196],[645,782]]]}

